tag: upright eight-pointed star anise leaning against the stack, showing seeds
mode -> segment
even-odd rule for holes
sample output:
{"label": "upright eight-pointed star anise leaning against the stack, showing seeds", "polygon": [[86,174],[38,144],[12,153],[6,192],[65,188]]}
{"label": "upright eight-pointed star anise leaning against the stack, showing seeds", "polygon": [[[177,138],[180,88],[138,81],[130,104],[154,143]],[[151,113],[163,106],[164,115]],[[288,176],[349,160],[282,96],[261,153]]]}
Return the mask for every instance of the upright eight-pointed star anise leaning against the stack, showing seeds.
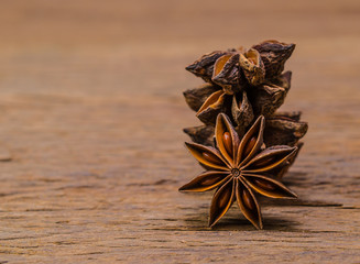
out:
{"label": "upright eight-pointed star anise leaning against the stack, showing seeds", "polygon": [[237,204],[244,217],[262,229],[260,207],[253,190],[271,198],[296,198],[296,195],[274,179],[275,168],[296,155],[297,147],[276,145],[261,148],[265,119],[260,116],[240,141],[229,118],[220,113],[216,120],[216,148],[186,143],[194,157],[207,169],[181,191],[206,191],[217,188],[210,207],[209,226],[216,224]]}

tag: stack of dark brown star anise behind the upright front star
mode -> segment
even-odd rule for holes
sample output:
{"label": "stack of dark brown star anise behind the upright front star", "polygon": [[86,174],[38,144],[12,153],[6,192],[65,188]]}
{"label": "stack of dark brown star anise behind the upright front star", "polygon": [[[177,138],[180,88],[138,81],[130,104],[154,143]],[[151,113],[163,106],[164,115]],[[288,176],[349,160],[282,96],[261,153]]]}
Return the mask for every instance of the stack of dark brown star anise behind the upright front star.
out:
{"label": "stack of dark brown star anise behind the upright front star", "polygon": [[[291,88],[291,72],[284,64],[292,55],[295,44],[264,41],[249,50],[230,48],[205,54],[186,67],[206,84],[184,92],[186,102],[204,123],[184,129],[196,143],[214,146],[214,129],[219,113],[229,117],[241,139],[254,121],[264,117],[263,143],[297,146],[307,131],[307,123],[299,121],[301,112],[276,112]],[[292,156],[276,172],[277,179],[293,164]]]}

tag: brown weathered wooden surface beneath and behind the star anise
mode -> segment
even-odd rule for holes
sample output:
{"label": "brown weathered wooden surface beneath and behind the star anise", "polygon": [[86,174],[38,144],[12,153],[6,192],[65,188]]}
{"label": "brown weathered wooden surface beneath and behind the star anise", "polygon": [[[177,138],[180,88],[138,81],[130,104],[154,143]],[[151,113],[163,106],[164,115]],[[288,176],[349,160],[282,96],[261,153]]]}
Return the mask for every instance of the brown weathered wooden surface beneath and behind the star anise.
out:
{"label": "brown weathered wooden surface beneath and behind the star anise", "polygon": [[[359,18],[358,0],[1,1],[0,263],[360,263]],[[299,200],[210,230],[211,194],[177,191],[201,172],[184,67],[266,38],[297,44]]]}

